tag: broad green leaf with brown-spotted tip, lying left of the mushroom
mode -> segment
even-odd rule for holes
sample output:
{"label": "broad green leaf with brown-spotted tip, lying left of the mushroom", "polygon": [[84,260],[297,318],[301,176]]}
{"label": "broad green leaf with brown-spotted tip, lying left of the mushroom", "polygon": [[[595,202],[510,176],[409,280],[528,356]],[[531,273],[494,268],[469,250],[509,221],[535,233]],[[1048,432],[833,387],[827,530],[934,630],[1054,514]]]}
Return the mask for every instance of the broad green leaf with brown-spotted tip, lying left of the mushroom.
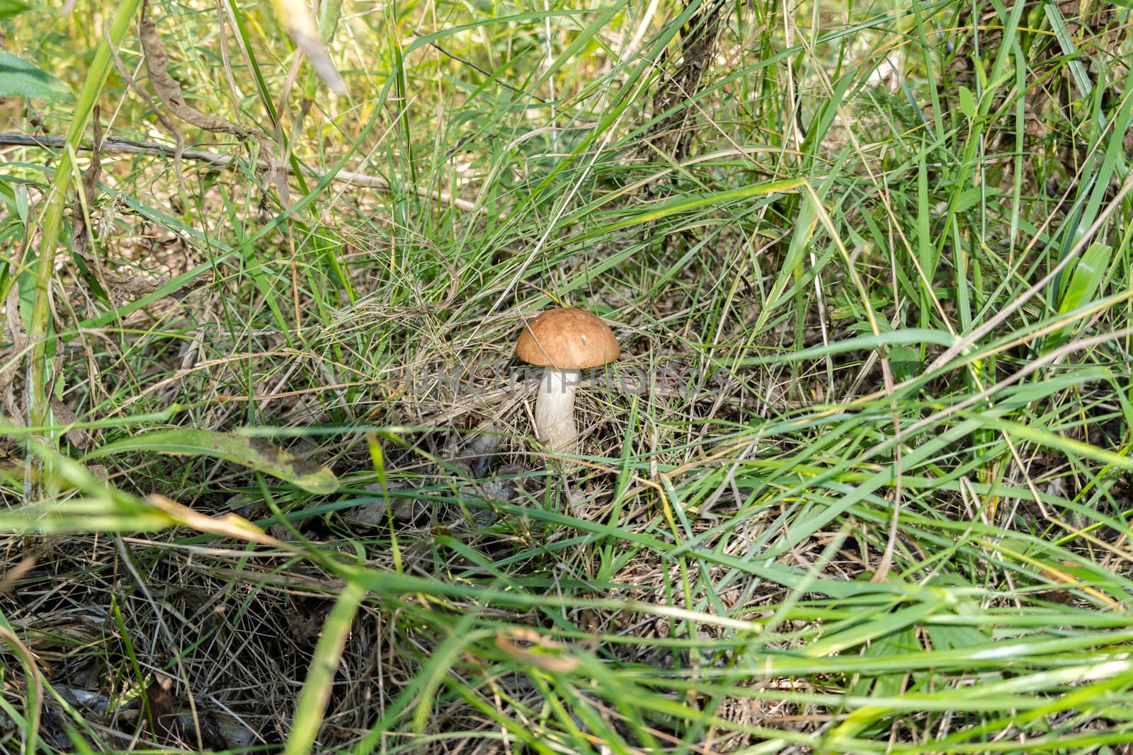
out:
{"label": "broad green leaf with brown-spotted tip, lying left of the mushroom", "polygon": [[325,466],[292,456],[282,448],[250,436],[179,428],[143,432],[107,444],[87,454],[97,458],[130,451],[179,456],[215,456],[264,472],[315,494],[334,492],[339,481]]}

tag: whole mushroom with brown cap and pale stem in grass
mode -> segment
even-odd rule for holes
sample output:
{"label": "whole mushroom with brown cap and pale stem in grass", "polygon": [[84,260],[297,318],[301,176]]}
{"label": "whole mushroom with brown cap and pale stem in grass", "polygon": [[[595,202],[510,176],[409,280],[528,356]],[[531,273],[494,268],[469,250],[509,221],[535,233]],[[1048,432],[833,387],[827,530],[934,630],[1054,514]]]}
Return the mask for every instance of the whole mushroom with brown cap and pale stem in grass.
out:
{"label": "whole mushroom with brown cap and pale stem in grass", "polygon": [[535,400],[535,436],[553,452],[574,453],[574,389],[588,367],[617,359],[617,338],[598,317],[581,309],[548,309],[523,328],[516,355],[546,367]]}

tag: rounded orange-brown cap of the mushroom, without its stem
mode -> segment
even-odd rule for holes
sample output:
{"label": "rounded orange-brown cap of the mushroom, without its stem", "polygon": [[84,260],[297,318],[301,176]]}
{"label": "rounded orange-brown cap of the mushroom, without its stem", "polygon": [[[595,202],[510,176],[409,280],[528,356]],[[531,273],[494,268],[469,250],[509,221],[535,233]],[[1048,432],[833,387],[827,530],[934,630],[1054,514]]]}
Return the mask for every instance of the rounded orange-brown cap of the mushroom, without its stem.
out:
{"label": "rounded orange-brown cap of the mushroom, without its stem", "polygon": [[528,323],[516,342],[516,355],[525,362],[560,370],[600,367],[621,353],[605,323],[572,308],[548,309]]}

